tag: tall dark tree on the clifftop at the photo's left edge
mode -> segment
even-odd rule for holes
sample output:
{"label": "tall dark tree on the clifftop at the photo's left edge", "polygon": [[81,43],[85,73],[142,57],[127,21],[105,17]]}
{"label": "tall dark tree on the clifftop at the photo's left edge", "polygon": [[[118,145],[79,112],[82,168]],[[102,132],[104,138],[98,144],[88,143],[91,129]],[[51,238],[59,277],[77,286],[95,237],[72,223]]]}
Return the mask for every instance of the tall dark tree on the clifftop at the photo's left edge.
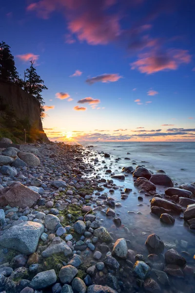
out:
{"label": "tall dark tree on the clifftop at the photo's left edge", "polygon": [[5,42],[0,42],[0,79],[4,82],[21,85],[14,56],[10,52],[10,46]]}

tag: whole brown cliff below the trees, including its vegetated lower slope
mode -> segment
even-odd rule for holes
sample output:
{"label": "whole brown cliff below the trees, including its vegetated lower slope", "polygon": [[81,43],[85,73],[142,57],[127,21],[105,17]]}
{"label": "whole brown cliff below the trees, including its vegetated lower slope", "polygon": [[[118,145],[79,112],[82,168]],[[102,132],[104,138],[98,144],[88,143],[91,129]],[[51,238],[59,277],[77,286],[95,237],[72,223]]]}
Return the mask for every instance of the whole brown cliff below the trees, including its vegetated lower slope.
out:
{"label": "whole brown cliff below the trees, including its vegetated lower slope", "polygon": [[49,141],[42,128],[39,102],[15,84],[0,82],[0,128],[20,140],[25,128],[29,141]]}

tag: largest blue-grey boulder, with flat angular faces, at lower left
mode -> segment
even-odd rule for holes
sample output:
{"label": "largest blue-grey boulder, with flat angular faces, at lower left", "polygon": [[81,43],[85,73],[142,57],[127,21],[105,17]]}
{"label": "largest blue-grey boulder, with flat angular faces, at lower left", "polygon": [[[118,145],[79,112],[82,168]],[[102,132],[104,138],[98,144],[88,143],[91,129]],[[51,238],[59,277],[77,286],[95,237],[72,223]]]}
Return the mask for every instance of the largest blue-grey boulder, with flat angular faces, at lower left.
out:
{"label": "largest blue-grey boulder, with flat angular faces, at lower left", "polygon": [[0,236],[0,245],[29,255],[36,251],[43,231],[44,226],[39,223],[23,222],[5,230]]}

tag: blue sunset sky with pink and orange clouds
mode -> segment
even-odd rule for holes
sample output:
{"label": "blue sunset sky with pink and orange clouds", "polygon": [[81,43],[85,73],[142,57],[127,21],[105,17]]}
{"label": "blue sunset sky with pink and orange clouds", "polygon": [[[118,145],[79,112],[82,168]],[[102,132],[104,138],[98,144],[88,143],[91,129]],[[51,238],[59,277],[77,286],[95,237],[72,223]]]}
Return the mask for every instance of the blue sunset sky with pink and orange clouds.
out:
{"label": "blue sunset sky with pink and orange clouds", "polygon": [[48,87],[53,141],[195,141],[194,0],[1,0],[0,40]]}

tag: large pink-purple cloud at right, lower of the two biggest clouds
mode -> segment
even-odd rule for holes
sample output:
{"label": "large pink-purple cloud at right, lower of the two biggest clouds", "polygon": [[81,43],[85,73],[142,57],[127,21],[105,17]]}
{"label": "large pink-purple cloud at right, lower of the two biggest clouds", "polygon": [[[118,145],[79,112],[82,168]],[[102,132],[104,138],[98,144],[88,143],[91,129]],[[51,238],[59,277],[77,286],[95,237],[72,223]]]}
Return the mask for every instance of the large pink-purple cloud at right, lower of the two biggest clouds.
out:
{"label": "large pink-purple cloud at right, lower of the two biggest clouds", "polygon": [[187,50],[172,49],[164,54],[150,52],[140,54],[139,59],[131,63],[131,69],[138,69],[141,73],[155,73],[161,70],[176,70],[182,63],[190,63],[191,55]]}

